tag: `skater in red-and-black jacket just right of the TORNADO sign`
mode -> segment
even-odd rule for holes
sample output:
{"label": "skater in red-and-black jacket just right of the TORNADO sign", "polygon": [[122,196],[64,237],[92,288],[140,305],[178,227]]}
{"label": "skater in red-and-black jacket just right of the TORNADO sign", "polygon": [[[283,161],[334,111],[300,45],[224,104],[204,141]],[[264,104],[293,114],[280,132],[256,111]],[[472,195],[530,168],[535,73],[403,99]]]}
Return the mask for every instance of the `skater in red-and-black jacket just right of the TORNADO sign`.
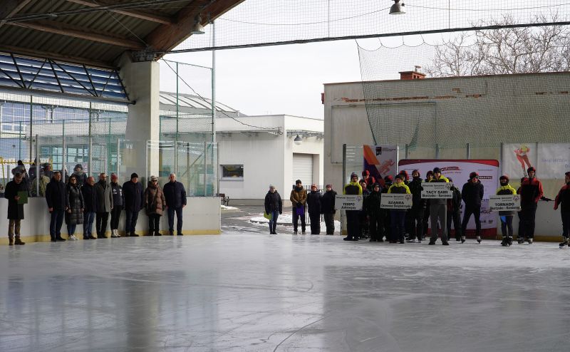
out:
{"label": "skater in red-and-black jacket just right of the TORNADO sign", "polygon": [[519,244],[529,242],[532,244],[534,239],[534,217],[537,215],[537,205],[544,195],[542,190],[542,183],[537,179],[537,170],[534,167],[529,167],[527,170],[529,177],[521,182],[519,188],[519,195],[521,195],[521,212],[519,221]]}

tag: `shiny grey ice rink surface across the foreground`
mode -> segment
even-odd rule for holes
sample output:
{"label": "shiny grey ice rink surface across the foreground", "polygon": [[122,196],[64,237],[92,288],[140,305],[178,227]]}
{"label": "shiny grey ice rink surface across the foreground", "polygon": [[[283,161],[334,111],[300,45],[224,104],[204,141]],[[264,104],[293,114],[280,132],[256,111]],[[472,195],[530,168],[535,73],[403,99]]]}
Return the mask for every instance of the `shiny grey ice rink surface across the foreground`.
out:
{"label": "shiny grey ice rink surface across the foreground", "polygon": [[0,351],[569,351],[569,249],[450,243],[3,246]]}

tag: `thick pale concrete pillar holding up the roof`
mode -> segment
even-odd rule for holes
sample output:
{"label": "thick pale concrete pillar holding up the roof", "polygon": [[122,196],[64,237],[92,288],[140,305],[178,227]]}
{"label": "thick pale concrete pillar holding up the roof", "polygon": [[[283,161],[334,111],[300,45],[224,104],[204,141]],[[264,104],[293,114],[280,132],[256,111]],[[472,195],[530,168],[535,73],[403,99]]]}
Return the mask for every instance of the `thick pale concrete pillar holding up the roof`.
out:
{"label": "thick pale concrete pillar holding up the roof", "polygon": [[[127,55],[120,59],[120,76],[130,100],[127,131],[123,145],[121,175],[128,179],[132,172],[139,177],[158,175],[159,152],[147,150],[147,141],[160,140],[160,66],[156,61],[131,62]],[[157,145],[157,143],[153,143]]]}

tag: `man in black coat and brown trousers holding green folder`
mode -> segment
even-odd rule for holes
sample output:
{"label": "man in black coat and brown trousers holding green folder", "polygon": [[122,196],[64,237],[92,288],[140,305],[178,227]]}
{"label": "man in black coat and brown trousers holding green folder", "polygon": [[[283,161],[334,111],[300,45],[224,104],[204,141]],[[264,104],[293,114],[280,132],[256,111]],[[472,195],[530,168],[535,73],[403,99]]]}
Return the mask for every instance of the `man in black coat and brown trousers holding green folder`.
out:
{"label": "man in black coat and brown trousers holding green folder", "polygon": [[[20,224],[21,220],[24,219],[24,205],[18,204],[20,200],[19,192],[28,192],[28,187],[24,182],[24,175],[21,172],[16,172],[14,180],[8,182],[4,190],[4,198],[8,200],[8,237],[11,246],[14,244],[25,244],[20,239]],[[16,235],[16,242],[14,242],[14,235]]]}

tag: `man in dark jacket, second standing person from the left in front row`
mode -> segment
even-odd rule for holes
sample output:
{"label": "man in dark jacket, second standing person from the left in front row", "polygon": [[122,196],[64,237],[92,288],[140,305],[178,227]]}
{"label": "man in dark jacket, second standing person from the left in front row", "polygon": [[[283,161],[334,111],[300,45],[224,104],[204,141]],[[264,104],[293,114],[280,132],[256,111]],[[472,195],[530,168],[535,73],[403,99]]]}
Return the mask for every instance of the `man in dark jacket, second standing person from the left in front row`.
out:
{"label": "man in dark jacket, second standing person from the left in front row", "polygon": [[46,186],[46,202],[51,213],[49,235],[51,242],[64,242],[61,237],[63,217],[66,215],[66,185],[61,182],[61,172],[53,172],[51,181]]}

